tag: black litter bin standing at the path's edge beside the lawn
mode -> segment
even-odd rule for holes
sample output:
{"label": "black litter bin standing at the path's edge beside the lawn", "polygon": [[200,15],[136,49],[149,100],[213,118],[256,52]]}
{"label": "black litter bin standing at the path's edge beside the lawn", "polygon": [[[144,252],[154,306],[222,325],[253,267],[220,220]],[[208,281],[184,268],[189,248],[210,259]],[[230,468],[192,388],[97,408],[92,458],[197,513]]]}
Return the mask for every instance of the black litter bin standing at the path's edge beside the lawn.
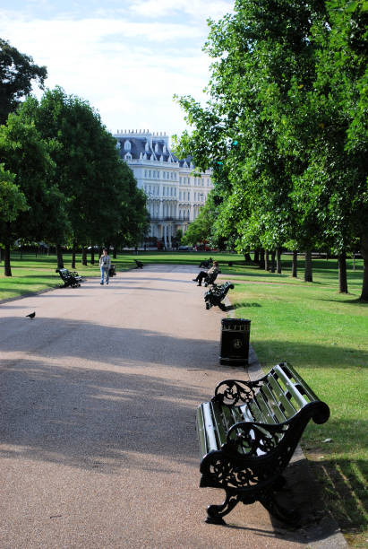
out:
{"label": "black litter bin standing at the path's edge beside the lawn", "polygon": [[220,364],[248,364],[251,321],[222,318]]}

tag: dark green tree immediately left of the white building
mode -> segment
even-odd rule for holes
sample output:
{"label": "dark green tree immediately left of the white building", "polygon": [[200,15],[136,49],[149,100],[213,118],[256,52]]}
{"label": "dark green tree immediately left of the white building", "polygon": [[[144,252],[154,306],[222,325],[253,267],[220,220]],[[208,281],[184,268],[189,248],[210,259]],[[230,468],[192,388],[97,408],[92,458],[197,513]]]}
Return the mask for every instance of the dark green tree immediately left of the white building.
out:
{"label": "dark green tree immediately left of the white building", "polygon": [[[73,267],[77,246],[85,251],[88,245],[137,240],[147,222],[145,198],[132,170],[120,160],[116,140],[102,125],[98,112],[87,101],[57,87],[47,90],[40,101],[26,100],[21,113],[44,139],[56,144],[54,177],[66,198]],[[58,248],[65,237],[60,233]],[[86,260],[85,253],[82,260]]]}

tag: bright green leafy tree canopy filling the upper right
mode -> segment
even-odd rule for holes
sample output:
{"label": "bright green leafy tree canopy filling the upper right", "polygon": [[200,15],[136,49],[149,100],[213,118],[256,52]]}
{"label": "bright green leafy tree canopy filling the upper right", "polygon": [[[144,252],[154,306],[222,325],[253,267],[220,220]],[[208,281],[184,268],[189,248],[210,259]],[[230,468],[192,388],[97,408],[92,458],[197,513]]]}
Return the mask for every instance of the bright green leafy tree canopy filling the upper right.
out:
{"label": "bright green leafy tree canopy filling the upper right", "polygon": [[363,0],[237,0],[209,22],[210,100],[177,99],[193,131],[176,146],[213,170],[218,220],[239,250],[345,254],[358,240],[363,299],[366,22]]}

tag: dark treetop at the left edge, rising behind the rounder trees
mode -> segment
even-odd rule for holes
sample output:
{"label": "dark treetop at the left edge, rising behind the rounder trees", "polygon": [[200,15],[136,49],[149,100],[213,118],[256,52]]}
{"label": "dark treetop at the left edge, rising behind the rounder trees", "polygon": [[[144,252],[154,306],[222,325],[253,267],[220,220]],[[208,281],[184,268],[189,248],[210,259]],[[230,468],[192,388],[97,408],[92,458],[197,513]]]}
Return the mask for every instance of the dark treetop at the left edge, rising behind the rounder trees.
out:
{"label": "dark treetop at the left edge, rising behind the rounder trees", "polygon": [[32,57],[21,54],[9,42],[0,39],[0,125],[30,94],[32,83],[43,88],[46,78],[46,66],[35,65]]}

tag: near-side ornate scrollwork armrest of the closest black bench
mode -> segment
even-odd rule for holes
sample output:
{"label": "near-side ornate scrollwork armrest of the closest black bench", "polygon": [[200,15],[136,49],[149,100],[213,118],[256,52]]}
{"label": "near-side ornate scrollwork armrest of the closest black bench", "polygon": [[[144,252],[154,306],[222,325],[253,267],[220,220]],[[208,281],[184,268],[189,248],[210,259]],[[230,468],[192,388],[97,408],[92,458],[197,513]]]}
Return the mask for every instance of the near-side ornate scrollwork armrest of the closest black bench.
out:
{"label": "near-side ornate scrollwork armrest of the closest black bench", "polygon": [[278,447],[279,441],[290,428],[288,422],[269,425],[268,423],[235,423],[227,432],[225,447],[243,456],[269,454]]}

